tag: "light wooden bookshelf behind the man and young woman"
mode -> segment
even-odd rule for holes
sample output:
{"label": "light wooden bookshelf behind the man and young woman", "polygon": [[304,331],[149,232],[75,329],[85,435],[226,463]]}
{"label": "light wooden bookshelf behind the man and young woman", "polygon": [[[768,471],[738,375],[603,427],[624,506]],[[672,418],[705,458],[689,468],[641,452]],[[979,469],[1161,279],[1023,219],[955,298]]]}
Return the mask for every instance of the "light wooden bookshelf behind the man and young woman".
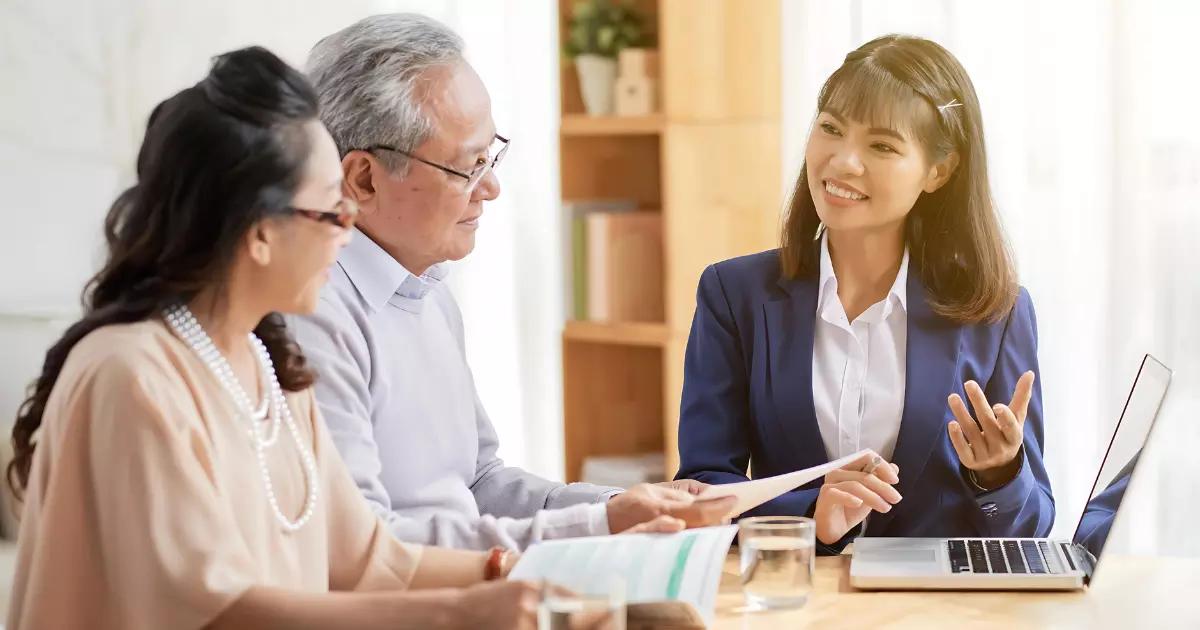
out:
{"label": "light wooden bookshelf behind the man and young woman", "polygon": [[[574,4],[559,0],[560,34]],[[571,481],[588,456],[656,451],[673,476],[700,275],[779,241],[779,0],[637,5],[659,52],[660,110],[590,118],[574,65],[563,64],[559,175],[564,203],[629,199],[661,212],[664,320],[565,323],[563,433]]]}

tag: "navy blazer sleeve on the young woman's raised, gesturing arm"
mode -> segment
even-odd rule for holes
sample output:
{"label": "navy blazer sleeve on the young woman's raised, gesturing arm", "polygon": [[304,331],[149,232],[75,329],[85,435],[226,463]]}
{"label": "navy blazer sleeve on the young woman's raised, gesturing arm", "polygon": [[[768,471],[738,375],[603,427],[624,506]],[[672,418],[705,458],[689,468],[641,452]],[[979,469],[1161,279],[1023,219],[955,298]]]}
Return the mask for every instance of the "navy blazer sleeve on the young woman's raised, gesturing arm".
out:
{"label": "navy blazer sleeve on the young woman's raised, gesturing arm", "polygon": [[1004,486],[976,497],[990,535],[1043,538],[1054,526],[1054,494],[1043,463],[1044,424],[1042,414],[1042,373],[1038,368],[1038,324],[1033,300],[1024,288],[1009,314],[992,377],[984,394],[989,401],[1008,401],[1016,380],[1032,370],[1033,397],[1025,416],[1025,444],[1021,469]]}

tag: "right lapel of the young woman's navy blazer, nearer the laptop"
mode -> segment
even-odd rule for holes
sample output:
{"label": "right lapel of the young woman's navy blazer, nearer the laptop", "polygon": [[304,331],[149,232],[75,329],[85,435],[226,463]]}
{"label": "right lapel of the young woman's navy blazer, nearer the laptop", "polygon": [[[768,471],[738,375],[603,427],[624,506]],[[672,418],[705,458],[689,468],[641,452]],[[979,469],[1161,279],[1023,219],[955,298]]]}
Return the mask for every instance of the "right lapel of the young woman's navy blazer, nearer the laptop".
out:
{"label": "right lapel of the young woman's navy blazer, nearer the laptop", "polygon": [[[913,491],[938,440],[949,439],[947,396],[955,390],[961,326],[934,312],[916,268],[908,272],[908,340],[905,359],[904,415],[892,461],[900,467],[900,496]],[[902,505],[902,503],[901,503]],[[872,532],[882,532],[895,512],[872,514]]]}

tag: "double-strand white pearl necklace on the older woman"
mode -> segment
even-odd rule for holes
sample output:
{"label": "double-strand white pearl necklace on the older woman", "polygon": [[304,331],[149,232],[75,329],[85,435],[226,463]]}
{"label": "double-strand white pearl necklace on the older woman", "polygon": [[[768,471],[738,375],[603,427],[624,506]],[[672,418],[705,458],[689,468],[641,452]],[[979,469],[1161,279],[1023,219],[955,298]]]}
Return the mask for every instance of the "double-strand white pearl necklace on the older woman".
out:
{"label": "double-strand white pearl necklace on the older woman", "polygon": [[[263,485],[266,488],[266,500],[271,504],[271,511],[275,512],[275,518],[283,526],[284,530],[299,530],[312,518],[313,512],[317,510],[317,464],[292,418],[292,409],[283,396],[283,389],[280,388],[280,380],[275,374],[275,365],[271,362],[270,353],[266,352],[266,346],[253,332],[250,335],[250,342],[254,347],[264,385],[263,404],[259,409],[254,409],[250,403],[250,396],[246,395],[246,390],[242,389],[238,382],[238,377],[234,376],[229,361],[226,360],[221,350],[212,343],[212,338],[209,337],[199,322],[196,320],[196,317],[187,306],[179,305],[168,308],[163,312],[163,317],[175,334],[196,350],[196,354],[204,361],[204,365],[209,367],[209,371],[217,377],[224,390],[233,397],[238,409],[250,420],[248,433],[258,454],[258,466],[263,473]],[[268,419],[269,412],[274,412],[270,413],[270,419]],[[280,436],[280,416],[283,418],[283,424],[288,425],[292,440],[295,443],[296,450],[300,451],[308,486],[304,514],[296,521],[292,521],[280,510],[280,502],[275,497],[275,486],[271,484],[271,473],[266,467],[266,449],[274,445]],[[266,420],[271,425],[268,428],[269,434],[266,437],[263,436],[259,428],[259,425],[264,424],[263,420]]]}

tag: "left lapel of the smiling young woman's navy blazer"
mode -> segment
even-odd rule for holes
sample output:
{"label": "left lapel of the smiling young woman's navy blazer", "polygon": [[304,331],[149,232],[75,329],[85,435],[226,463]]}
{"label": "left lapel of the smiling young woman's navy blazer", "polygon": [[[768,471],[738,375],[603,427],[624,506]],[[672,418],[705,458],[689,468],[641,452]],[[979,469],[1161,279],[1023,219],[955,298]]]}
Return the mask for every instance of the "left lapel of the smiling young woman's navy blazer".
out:
{"label": "left lapel of the smiling young woman's navy blazer", "polygon": [[[780,280],[790,298],[763,305],[767,340],[767,394],[772,418],[792,461],[817,466],[828,461],[812,403],[812,331],[817,311],[816,278]],[[799,468],[799,467],[797,467]]]}

